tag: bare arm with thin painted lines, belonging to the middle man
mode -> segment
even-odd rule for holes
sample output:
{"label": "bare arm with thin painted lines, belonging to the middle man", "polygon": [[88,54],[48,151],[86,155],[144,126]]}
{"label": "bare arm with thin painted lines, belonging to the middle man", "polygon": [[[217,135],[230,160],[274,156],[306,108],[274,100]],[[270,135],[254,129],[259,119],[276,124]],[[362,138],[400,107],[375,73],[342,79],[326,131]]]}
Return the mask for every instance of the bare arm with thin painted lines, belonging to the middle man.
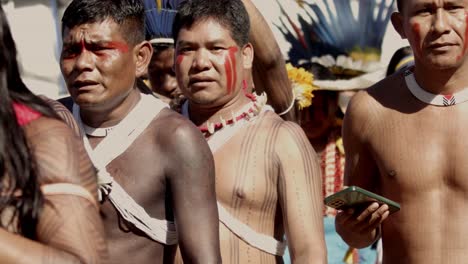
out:
{"label": "bare arm with thin painted lines, belonging to the middle man", "polygon": [[302,129],[284,122],[276,140],[279,194],[293,263],[326,263],[322,178]]}

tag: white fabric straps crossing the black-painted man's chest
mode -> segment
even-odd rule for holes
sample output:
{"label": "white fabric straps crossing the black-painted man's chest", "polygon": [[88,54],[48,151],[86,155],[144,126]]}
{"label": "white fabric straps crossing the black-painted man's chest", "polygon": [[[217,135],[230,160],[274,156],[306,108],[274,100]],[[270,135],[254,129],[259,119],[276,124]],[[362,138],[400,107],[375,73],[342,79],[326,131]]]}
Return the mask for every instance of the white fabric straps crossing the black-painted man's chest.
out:
{"label": "white fabric straps crossing the black-painted man's chest", "polygon": [[138,104],[94,150],[84,133],[80,109],[76,104],[73,105],[73,116],[82,130],[86,150],[98,170],[99,199],[102,200],[104,196],[107,196],[122,218],[147,234],[151,239],[166,245],[174,245],[177,244],[175,224],[149,216],[145,209],[125,192],[106,169],[106,166],[125,152],[148,127],[154,117],[166,107],[167,104],[152,95],[141,94]]}

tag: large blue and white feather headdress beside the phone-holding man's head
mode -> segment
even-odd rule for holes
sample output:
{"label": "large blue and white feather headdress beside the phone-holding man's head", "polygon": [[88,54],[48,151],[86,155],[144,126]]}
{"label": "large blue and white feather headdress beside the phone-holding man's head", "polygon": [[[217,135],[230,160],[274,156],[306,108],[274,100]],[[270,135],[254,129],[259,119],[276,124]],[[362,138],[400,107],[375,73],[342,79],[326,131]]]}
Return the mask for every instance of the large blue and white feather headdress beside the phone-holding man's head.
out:
{"label": "large blue and white feather headdress beside the phone-holding man's head", "polygon": [[395,0],[296,0],[297,17],[282,7],[284,1],[277,2],[282,12],[277,27],[292,45],[291,63],[318,63],[340,79],[316,80],[319,89],[366,88],[385,75],[377,71]]}

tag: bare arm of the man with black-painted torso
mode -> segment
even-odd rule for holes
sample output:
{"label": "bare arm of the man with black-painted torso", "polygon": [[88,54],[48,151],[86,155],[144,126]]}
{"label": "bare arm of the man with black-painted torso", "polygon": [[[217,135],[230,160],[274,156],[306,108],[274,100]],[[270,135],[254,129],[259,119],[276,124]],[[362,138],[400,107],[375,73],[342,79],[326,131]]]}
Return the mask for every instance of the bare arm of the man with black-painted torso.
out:
{"label": "bare arm of the man with black-painted torso", "polygon": [[169,131],[169,182],[185,263],[221,263],[214,161],[198,129],[183,120]]}

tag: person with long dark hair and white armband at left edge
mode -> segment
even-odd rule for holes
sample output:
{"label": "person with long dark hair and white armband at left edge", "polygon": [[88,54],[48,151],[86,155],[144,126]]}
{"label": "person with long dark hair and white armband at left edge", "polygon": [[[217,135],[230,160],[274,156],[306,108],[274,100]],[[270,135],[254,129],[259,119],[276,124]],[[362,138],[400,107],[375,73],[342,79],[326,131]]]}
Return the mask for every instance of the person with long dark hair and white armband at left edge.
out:
{"label": "person with long dark hair and white armband at left edge", "polygon": [[96,173],[80,139],[21,80],[1,6],[0,47],[0,263],[107,263]]}

